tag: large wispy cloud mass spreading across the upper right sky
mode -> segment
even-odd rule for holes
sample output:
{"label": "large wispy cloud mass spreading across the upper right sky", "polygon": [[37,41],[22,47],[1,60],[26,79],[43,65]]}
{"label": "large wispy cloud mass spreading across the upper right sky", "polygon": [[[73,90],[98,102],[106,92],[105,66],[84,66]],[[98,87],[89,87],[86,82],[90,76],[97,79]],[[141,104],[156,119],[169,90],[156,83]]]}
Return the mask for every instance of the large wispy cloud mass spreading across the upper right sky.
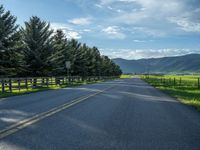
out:
{"label": "large wispy cloud mass spreading across the upper right sky", "polygon": [[[116,25],[143,27],[139,32],[154,36],[167,36],[185,32],[199,32],[200,9],[195,6],[197,0],[101,0],[104,7],[112,6],[113,13],[118,12],[110,22]],[[195,8],[196,7],[196,8]],[[120,10],[120,11],[118,11]],[[172,24],[168,18],[179,19]],[[177,25],[182,29],[177,30]]]}

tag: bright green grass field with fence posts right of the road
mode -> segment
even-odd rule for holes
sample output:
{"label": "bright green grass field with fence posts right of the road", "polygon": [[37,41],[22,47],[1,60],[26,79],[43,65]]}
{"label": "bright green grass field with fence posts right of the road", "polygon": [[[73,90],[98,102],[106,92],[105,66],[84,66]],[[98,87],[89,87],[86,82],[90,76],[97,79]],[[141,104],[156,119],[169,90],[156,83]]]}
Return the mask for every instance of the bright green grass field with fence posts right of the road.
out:
{"label": "bright green grass field with fence posts right of the road", "polygon": [[199,77],[192,75],[150,75],[149,77],[142,76],[142,79],[170,96],[177,98],[182,103],[200,111]]}

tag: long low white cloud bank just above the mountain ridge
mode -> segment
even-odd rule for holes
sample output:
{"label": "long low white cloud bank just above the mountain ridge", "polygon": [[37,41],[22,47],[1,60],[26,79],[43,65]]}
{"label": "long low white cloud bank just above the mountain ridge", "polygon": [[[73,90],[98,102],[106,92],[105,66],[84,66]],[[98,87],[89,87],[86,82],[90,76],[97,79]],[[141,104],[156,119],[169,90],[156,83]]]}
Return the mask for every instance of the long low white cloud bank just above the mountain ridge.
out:
{"label": "long low white cloud bank just above the mountain ridge", "polygon": [[[111,58],[141,59],[180,56],[191,53],[200,53],[199,50],[191,49],[100,49],[103,55]],[[124,55],[126,54],[126,55]]]}

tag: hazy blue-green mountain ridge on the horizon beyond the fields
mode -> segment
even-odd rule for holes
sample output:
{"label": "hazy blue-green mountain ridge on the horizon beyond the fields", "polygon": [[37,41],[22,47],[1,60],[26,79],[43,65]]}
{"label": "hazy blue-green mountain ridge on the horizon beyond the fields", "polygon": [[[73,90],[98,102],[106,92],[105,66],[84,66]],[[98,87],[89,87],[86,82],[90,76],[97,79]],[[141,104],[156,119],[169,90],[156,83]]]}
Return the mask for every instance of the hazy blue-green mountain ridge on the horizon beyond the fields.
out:
{"label": "hazy blue-green mountain ridge on the horizon beyond the fields", "polygon": [[200,54],[138,60],[113,59],[123,73],[200,73]]}

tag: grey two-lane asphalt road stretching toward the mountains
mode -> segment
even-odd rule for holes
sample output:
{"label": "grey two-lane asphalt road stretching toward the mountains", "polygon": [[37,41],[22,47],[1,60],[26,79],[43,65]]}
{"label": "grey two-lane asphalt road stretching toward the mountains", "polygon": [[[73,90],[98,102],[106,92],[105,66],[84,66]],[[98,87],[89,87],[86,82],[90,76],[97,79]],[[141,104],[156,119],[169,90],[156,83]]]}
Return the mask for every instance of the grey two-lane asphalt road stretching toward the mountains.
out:
{"label": "grey two-lane asphalt road stretching toward the mountains", "polygon": [[200,113],[139,78],[0,99],[0,150],[199,150]]}

